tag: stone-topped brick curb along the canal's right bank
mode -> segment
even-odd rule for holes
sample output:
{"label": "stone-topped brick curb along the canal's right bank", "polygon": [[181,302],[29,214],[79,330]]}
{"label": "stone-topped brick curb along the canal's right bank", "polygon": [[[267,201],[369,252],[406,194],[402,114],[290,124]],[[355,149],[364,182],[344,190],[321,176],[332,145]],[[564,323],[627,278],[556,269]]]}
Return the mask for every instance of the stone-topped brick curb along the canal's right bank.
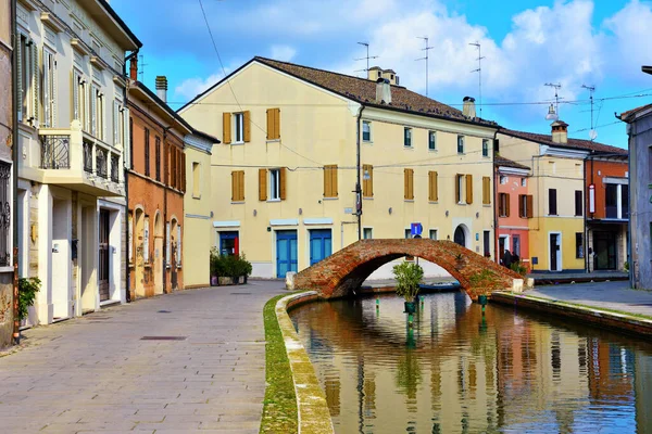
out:
{"label": "stone-topped brick curb along the canal's right bank", "polygon": [[599,307],[591,309],[588,307],[566,304],[569,302],[556,301],[552,298],[532,298],[524,294],[513,294],[506,292],[494,292],[491,294],[491,303],[550,312],[561,317],[590,322],[593,326],[598,326],[603,329],[614,330],[635,335],[637,337],[652,340],[652,320],[624,314],[610,312],[601,310]]}

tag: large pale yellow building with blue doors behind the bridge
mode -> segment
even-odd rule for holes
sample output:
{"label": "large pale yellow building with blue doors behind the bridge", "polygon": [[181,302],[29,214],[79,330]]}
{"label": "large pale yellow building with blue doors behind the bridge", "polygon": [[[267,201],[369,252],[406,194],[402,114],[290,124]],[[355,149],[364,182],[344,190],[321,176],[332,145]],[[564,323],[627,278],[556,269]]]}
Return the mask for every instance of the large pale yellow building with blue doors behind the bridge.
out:
{"label": "large pale yellow building with blue doors behind the bridge", "polygon": [[246,253],[254,277],[285,277],[360,238],[404,238],[411,222],[493,256],[498,126],[471,98],[463,113],[397,86],[393,71],[368,76],[254,58],[179,110],[222,139],[213,243]]}

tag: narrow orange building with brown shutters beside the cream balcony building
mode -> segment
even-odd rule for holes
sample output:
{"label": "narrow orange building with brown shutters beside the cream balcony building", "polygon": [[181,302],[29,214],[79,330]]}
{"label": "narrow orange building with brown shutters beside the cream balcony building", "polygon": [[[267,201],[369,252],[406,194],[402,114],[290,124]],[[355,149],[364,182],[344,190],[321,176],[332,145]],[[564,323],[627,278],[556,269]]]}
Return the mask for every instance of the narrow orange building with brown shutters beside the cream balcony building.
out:
{"label": "narrow orange building with brown shutters beside the cream balcony building", "polygon": [[165,77],[156,95],[137,80],[136,58],[129,75],[129,291],[140,298],[184,288],[184,138],[192,128],[166,104]]}

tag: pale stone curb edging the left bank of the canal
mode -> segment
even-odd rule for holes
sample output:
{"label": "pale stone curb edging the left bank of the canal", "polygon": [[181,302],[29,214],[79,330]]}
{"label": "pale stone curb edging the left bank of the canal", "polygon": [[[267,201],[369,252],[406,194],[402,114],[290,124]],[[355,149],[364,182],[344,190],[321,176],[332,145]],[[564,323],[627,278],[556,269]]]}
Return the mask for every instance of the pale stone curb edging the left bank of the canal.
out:
{"label": "pale stone curb edging the left bank of the canal", "polygon": [[276,319],[283,334],[294,382],[299,434],[335,433],[330,411],[326,404],[326,395],[288,315],[288,308],[315,299],[318,299],[317,293],[309,291],[288,295],[276,302]]}

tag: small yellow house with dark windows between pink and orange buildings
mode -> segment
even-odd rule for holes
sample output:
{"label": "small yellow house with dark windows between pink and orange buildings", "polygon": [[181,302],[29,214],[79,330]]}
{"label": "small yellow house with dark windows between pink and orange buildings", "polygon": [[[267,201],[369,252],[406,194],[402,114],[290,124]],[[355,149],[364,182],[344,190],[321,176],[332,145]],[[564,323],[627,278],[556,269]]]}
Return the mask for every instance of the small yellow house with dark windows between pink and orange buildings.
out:
{"label": "small yellow house with dark windows between pink and orange buildings", "polygon": [[501,130],[500,155],[531,167],[534,196],[529,224],[532,271],[584,271],[585,158],[591,143],[568,139],[567,124],[552,124],[552,135]]}

